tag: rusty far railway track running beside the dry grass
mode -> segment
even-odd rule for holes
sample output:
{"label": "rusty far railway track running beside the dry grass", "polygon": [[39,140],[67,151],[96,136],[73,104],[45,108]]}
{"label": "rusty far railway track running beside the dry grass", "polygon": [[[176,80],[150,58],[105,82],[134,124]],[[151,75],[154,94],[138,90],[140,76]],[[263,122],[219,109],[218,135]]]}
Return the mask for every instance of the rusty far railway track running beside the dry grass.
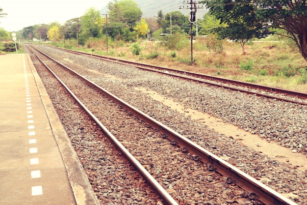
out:
{"label": "rusty far railway track running beside the dry grass", "polygon": [[222,88],[227,88],[231,90],[237,90],[240,92],[246,92],[246,93],[257,95],[257,96],[278,99],[278,100],[297,103],[301,105],[307,105],[307,93],[304,93],[304,92],[296,92],[296,91],[286,90],[286,89],[281,89],[281,88],[261,86],[257,84],[234,81],[230,79],[219,78],[219,77],[204,75],[200,73],[188,72],[184,70],[177,70],[177,69],[172,69],[172,68],[148,65],[148,64],[138,63],[138,62],[131,62],[131,61],[123,60],[123,59],[103,57],[99,55],[88,54],[84,52],[73,51],[73,50],[63,49],[59,47],[53,47],[53,48],[62,50],[62,51],[66,51],[66,52],[70,52],[73,54],[77,54],[77,55],[86,55],[92,58],[102,59],[102,60],[106,60],[110,62],[125,64],[125,65],[132,65],[139,69],[152,71],[152,72],[158,72],[164,75],[178,77],[178,78],[182,78],[186,80],[192,80],[192,81],[196,81],[199,83],[205,83],[211,86],[222,87]]}

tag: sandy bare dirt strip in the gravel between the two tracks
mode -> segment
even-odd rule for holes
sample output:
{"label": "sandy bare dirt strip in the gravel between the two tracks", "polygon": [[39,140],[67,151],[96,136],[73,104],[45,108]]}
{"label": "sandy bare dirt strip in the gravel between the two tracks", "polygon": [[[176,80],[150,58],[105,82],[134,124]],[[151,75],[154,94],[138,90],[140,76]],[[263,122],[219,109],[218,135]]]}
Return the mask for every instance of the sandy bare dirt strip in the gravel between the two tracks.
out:
{"label": "sandy bare dirt strip in the gravel between the two tracks", "polygon": [[275,158],[277,161],[290,163],[302,171],[307,170],[307,159],[304,154],[292,152],[292,150],[282,147],[273,141],[266,141],[265,139],[261,139],[258,135],[253,135],[249,132],[246,132],[245,130],[231,125],[230,123],[223,122],[222,119],[212,117],[208,114],[204,114],[196,110],[187,109],[183,105],[174,102],[170,98],[165,98],[164,96],[159,95],[154,91],[150,91],[146,88],[135,89],[141,90],[142,92],[150,95],[153,99],[171,107],[174,110],[177,110],[179,113],[182,113],[187,117],[191,117],[192,119],[197,120],[199,123],[203,123],[209,128],[214,129],[215,131],[224,134],[227,137],[232,137],[240,143],[252,147],[256,151],[266,154],[271,158]]}

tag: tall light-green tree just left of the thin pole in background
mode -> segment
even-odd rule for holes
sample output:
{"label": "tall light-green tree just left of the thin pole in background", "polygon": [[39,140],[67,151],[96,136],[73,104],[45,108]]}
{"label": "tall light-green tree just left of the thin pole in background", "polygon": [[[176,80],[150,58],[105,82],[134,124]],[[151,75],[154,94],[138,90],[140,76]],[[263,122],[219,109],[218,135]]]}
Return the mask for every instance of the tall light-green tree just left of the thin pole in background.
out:
{"label": "tall light-green tree just left of the thin pole in background", "polygon": [[83,16],[81,16],[81,21],[83,37],[99,37],[101,35],[102,18],[99,10],[94,7],[87,9]]}

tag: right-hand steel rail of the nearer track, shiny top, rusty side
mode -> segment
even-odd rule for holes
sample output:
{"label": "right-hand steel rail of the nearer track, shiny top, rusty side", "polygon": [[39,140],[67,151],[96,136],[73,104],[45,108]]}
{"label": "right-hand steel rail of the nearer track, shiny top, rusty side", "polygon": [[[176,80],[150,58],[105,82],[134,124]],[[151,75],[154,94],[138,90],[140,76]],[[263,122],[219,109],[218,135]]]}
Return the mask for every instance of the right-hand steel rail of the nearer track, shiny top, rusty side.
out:
{"label": "right-hand steel rail of the nearer track, shiny top, rusty side", "polygon": [[[61,64],[60,62],[58,63],[62,66],[65,66]],[[78,75],[77,72],[73,70],[71,70],[71,72]],[[78,76],[78,78],[82,80],[86,80],[82,76]],[[172,143],[181,147],[182,151],[184,152],[188,151],[192,153],[196,161],[203,161],[204,163],[209,164],[208,166],[209,170],[218,172],[225,177],[231,177],[231,180],[236,185],[248,191],[249,193],[255,193],[255,195],[257,196],[257,200],[264,203],[265,205],[297,205],[295,202],[282,196],[280,193],[274,191],[273,189],[269,188],[263,183],[257,181],[255,178],[247,175],[246,173],[242,172],[238,168],[230,165],[228,162],[220,159],[218,156],[207,151],[205,148],[188,140],[187,138],[183,137],[176,131],[165,126],[164,124],[160,123],[154,118],[146,115],[145,113],[138,110],[137,108],[134,108],[133,106],[121,100],[117,96],[101,88],[97,84],[91,81],[88,81],[88,84],[90,84],[93,88],[97,88],[98,90],[101,90],[104,93],[104,95],[112,99],[119,106],[120,109],[123,109],[123,110],[126,109],[131,113],[131,115],[134,115],[135,117],[138,117],[139,119],[141,119],[141,121],[145,123],[147,127],[151,127],[154,130],[157,130],[160,133],[163,133],[161,134],[162,138],[167,138]]]}

